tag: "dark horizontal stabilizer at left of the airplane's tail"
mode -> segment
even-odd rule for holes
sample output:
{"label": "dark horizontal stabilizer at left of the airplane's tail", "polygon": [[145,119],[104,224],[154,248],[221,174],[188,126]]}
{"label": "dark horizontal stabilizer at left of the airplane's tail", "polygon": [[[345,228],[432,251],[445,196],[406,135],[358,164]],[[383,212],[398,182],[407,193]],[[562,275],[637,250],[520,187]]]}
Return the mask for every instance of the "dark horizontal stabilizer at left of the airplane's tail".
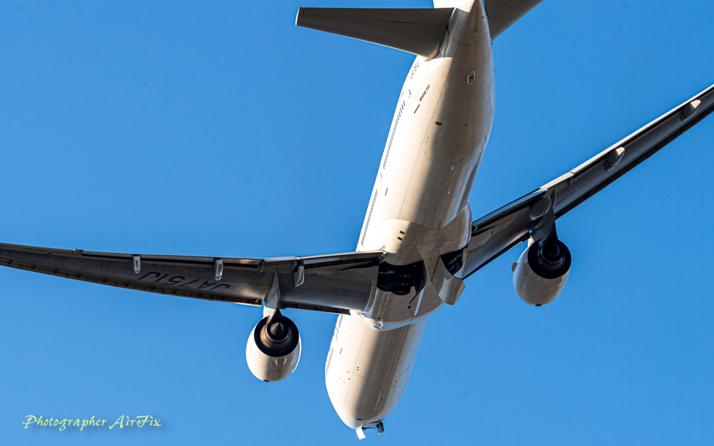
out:
{"label": "dark horizontal stabilizer at left of the airplane's tail", "polygon": [[295,24],[431,59],[452,13],[453,8],[301,8]]}

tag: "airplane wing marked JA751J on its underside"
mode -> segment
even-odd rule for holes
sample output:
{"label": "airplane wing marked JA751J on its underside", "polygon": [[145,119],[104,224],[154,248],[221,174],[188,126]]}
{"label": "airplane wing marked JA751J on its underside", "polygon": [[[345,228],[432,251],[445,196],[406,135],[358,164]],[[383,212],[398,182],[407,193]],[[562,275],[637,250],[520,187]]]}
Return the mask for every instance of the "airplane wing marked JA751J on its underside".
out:
{"label": "airplane wing marked JA751J on its underside", "polygon": [[[135,255],[0,244],[0,265],[150,293],[328,313],[363,310],[382,251],[281,258]],[[274,295],[274,293],[273,293]]]}

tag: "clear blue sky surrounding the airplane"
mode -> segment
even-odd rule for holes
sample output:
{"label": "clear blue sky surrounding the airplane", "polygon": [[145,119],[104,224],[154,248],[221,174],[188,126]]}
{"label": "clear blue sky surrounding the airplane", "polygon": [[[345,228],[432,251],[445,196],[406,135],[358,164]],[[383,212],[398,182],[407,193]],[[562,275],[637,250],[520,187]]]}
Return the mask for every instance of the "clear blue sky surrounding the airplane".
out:
{"label": "clear blue sky surrounding the airplane", "polygon": [[[353,250],[413,56],[294,26],[298,6],[0,3],[0,240],[127,253]],[[545,0],[493,44],[482,216],[714,83],[710,0]],[[513,292],[514,248],[433,316],[384,445],[714,443],[714,118],[558,221],[563,295]],[[288,380],[248,371],[257,308],[0,268],[12,445],[357,441],[328,400],[335,317],[292,311]],[[470,330],[466,339],[455,328]],[[26,415],[159,429],[24,430]],[[373,432],[369,432],[372,434]]]}

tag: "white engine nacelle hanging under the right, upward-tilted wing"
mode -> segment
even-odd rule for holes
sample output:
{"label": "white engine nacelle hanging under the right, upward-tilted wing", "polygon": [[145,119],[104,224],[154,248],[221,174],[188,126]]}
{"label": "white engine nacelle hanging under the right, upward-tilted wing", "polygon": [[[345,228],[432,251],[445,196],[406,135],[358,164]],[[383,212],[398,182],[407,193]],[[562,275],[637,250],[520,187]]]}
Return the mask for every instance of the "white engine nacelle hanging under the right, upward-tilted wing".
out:
{"label": "white engine nacelle hanging under the right, upward-tilted wing", "polygon": [[552,238],[532,243],[513,268],[513,288],[528,305],[546,305],[563,292],[570,276],[570,251]]}

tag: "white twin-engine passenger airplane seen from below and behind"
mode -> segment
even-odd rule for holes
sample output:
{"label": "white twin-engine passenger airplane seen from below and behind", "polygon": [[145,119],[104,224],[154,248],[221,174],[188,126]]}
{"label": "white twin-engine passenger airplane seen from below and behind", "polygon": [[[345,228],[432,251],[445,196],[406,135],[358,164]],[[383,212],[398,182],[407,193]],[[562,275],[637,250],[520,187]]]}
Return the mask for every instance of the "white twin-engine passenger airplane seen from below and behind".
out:
{"label": "white twin-engine passenger airplane seen from below and behind", "polygon": [[296,25],[416,56],[401,89],[356,251],[212,258],[0,244],[0,264],[150,293],[263,308],[246,361],[265,382],[298,365],[283,313],[338,314],[328,396],[358,437],[383,432],[406,391],[429,318],[464,280],[523,242],[513,287],[540,307],[562,293],[571,256],[556,221],[714,111],[714,85],[584,163],[473,220],[469,197],[493,128],[492,42],[542,0],[435,0],[428,9],[301,8]]}

